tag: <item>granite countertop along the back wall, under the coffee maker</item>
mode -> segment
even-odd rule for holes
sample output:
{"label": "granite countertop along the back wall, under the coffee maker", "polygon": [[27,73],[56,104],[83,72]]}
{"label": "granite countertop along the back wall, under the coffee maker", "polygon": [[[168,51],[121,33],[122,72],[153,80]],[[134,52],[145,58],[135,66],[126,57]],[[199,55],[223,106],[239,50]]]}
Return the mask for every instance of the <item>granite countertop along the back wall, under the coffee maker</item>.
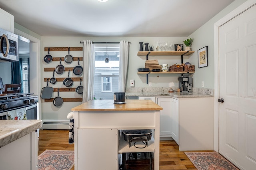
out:
{"label": "granite countertop along the back wall, under the coffee maker", "polygon": [[212,94],[196,92],[126,92],[126,96],[171,96],[175,98],[207,98],[214,97]]}

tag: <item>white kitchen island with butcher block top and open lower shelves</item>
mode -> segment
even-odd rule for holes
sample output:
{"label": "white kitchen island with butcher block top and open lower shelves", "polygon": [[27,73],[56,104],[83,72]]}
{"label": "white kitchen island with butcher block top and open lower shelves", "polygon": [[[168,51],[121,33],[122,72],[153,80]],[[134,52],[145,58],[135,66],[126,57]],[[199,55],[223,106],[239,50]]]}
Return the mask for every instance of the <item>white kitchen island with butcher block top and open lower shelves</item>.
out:
{"label": "white kitchen island with butcher block top and open lower shelves", "polygon": [[[122,153],[154,152],[154,170],[159,170],[160,110],[150,100],[90,100],[72,108],[76,170],[118,170]],[[152,129],[148,146],[128,146],[121,130]]]}

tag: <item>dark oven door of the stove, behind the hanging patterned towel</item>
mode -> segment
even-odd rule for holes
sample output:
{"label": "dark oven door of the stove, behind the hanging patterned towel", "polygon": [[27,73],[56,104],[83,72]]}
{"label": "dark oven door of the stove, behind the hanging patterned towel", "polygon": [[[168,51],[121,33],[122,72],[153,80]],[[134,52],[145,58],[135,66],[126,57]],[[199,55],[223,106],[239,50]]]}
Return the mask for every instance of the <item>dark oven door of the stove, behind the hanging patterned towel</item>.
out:
{"label": "dark oven door of the stove, behind the hanging patterned towel", "polygon": [[[0,113],[0,120],[6,120],[7,119],[7,112],[8,111],[16,110],[16,109],[20,109],[20,108],[24,108],[24,106],[8,109],[8,110],[5,110],[4,112]],[[31,119],[31,120],[39,119],[38,103],[28,105],[25,108],[26,108],[27,119]]]}

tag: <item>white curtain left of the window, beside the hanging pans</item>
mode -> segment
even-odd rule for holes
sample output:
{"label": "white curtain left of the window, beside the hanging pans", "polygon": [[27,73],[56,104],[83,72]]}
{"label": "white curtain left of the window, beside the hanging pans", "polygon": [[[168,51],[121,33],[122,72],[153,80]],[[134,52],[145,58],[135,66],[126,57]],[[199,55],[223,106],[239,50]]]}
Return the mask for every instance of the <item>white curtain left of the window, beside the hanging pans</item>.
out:
{"label": "white curtain left of the window, beside the hanging pans", "polygon": [[93,99],[93,78],[94,78],[94,56],[93,44],[90,40],[84,40],[84,59],[83,59],[83,101],[87,102]]}

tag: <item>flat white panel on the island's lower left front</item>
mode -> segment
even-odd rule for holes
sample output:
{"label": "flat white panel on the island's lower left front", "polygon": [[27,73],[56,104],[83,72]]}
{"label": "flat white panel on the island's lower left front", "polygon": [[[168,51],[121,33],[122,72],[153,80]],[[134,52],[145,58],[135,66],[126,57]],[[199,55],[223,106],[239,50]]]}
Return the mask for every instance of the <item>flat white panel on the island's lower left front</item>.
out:
{"label": "flat white panel on the island's lower left front", "polygon": [[[84,167],[87,170],[94,170],[95,167],[99,170],[118,169],[117,129],[80,128],[77,129],[77,134],[79,158],[77,169],[84,169]],[[96,162],[98,162],[97,166]]]}

